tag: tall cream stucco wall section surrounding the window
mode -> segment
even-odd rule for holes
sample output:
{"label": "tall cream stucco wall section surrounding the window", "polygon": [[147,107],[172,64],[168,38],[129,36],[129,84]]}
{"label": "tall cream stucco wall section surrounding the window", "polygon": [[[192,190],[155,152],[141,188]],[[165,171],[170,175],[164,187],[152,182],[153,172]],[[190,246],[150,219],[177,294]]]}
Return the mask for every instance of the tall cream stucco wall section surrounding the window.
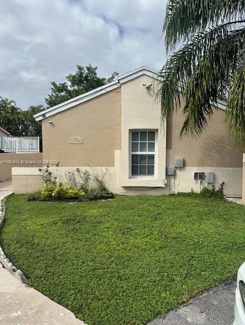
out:
{"label": "tall cream stucco wall section surrounding the window", "polygon": [[[152,78],[144,75],[121,86],[121,186],[165,187],[166,128],[161,126],[160,111],[155,102],[155,90],[153,87],[146,89],[143,83],[152,83]],[[129,175],[129,131],[134,129],[157,132],[155,177],[133,178]]]}

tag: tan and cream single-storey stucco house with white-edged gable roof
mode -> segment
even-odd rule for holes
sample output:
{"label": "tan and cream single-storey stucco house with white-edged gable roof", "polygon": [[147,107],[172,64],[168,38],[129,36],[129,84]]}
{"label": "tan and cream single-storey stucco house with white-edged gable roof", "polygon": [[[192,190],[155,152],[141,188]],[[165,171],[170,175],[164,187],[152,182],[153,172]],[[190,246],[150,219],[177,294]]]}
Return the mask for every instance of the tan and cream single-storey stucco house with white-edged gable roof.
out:
{"label": "tan and cream single-storey stucco house with white-edged gable roof", "polygon": [[242,152],[227,134],[226,104],[216,104],[199,139],[180,140],[181,112],[161,123],[156,73],[140,67],[36,114],[43,160],[58,160],[63,180],[77,167],[106,173],[106,186],[115,193],[198,192],[225,182],[227,196],[241,196]]}

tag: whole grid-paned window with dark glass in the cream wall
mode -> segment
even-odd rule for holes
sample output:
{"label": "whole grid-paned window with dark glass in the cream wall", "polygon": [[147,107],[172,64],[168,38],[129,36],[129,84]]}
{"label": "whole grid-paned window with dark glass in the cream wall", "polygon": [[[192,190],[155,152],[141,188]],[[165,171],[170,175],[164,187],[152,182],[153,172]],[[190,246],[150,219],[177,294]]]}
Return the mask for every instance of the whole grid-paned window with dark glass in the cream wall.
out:
{"label": "whole grid-paned window with dark glass in the cream wall", "polygon": [[155,131],[131,131],[131,176],[155,175]]}

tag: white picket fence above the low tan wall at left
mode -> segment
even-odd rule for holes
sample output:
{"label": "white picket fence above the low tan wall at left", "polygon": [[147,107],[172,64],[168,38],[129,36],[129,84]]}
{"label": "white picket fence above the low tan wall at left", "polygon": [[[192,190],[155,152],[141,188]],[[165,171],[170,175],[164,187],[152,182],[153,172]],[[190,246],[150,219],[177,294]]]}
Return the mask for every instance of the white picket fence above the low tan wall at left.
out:
{"label": "white picket fence above the low tan wall at left", "polygon": [[5,152],[39,152],[39,137],[4,137]]}

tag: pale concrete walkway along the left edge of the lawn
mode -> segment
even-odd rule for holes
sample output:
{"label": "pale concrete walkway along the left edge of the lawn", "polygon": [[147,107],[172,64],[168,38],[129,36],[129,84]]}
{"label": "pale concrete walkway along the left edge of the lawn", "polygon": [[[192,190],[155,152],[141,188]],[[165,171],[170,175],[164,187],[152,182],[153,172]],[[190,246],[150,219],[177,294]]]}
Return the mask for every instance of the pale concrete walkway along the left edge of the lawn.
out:
{"label": "pale concrete walkway along the left edge of the lawn", "polygon": [[[0,183],[0,200],[12,192],[11,181]],[[8,256],[7,256],[8,257]],[[85,325],[68,309],[30,288],[0,263],[1,325]]]}

